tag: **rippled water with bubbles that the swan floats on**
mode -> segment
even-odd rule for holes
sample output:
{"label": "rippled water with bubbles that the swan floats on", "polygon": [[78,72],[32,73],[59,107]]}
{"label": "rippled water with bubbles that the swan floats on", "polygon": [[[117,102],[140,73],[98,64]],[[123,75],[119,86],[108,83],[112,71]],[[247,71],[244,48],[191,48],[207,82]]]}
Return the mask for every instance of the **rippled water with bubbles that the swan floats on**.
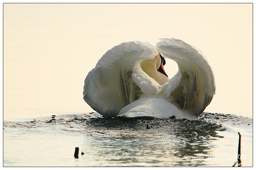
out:
{"label": "rippled water with bubbles that the swan floats on", "polygon": [[242,166],[252,166],[248,117],[206,112],[196,121],[125,120],[85,113],[4,121],[3,165],[233,166],[238,131]]}

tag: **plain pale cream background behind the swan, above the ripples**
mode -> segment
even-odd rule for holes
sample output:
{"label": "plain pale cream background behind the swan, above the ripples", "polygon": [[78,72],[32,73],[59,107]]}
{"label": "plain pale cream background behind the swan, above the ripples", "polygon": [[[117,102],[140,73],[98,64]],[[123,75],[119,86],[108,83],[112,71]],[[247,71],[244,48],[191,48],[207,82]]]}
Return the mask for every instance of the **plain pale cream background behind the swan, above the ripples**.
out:
{"label": "plain pale cream background behind the swan, above the ripples", "polygon": [[[93,111],[84,79],[125,41],[177,38],[215,74],[204,110],[252,117],[252,4],[4,4],[4,120]],[[167,60],[169,77],[178,70]]]}

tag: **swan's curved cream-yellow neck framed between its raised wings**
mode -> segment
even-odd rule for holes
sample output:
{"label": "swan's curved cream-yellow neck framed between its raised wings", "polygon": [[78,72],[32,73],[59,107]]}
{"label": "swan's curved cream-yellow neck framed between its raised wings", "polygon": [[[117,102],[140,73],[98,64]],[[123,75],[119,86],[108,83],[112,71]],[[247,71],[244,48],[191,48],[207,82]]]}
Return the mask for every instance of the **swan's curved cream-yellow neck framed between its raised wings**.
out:
{"label": "swan's curved cream-yellow neck framed between its raised wings", "polygon": [[140,66],[145,73],[155,79],[160,85],[163,85],[169,81],[167,76],[157,71],[157,69],[159,69],[161,66],[161,58],[159,53],[155,56],[154,59],[143,60],[140,63]]}

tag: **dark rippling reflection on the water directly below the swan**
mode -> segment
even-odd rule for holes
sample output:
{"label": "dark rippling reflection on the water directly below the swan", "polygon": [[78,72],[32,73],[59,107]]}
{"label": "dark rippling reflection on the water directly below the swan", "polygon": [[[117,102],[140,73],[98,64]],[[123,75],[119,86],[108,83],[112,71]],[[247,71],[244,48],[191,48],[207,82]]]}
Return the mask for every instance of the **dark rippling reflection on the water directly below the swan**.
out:
{"label": "dark rippling reflection on the water directly below the swan", "polygon": [[[120,156],[118,160],[110,160],[120,162],[139,163],[141,159],[147,163],[163,162],[164,166],[168,166],[165,163],[168,159],[177,166],[204,165],[200,161],[184,161],[184,156],[210,154],[214,147],[212,141],[223,138],[216,131],[225,130],[218,123],[185,119],[116,120],[100,117],[85,121],[85,124],[88,129],[97,129],[98,134],[94,134],[93,140],[101,148],[99,156],[117,155]],[[148,130],[147,124],[150,126]],[[197,135],[192,135],[192,132]]]}

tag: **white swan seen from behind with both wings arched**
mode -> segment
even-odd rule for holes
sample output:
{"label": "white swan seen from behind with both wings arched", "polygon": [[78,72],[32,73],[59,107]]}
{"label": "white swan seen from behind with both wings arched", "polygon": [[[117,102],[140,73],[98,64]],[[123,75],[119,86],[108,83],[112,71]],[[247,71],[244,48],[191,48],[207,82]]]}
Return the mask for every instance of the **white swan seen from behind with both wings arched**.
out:
{"label": "white swan seen from behind with both wings arched", "polygon": [[[170,80],[164,58],[177,62]],[[200,50],[179,39],[124,42],[108,50],[84,81],[84,100],[103,116],[196,120],[212,101],[215,80]]]}

